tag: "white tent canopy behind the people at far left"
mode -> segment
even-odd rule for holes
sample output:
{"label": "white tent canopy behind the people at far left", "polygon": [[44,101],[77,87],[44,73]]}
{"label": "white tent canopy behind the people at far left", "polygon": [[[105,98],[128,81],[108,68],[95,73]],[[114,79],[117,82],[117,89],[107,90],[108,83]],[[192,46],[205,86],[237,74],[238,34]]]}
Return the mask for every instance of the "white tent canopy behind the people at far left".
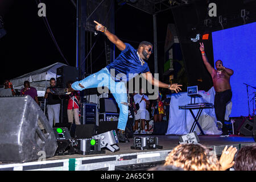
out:
{"label": "white tent canopy behind the people at far left", "polygon": [[63,66],[63,63],[55,63],[38,69],[34,72],[27,73],[25,75],[19,76],[17,78],[11,79],[10,82],[13,84],[14,89],[21,89],[24,87],[24,81],[29,81],[30,86],[36,88],[36,90],[46,90],[46,87],[49,86],[49,80],[57,78],[56,69]]}

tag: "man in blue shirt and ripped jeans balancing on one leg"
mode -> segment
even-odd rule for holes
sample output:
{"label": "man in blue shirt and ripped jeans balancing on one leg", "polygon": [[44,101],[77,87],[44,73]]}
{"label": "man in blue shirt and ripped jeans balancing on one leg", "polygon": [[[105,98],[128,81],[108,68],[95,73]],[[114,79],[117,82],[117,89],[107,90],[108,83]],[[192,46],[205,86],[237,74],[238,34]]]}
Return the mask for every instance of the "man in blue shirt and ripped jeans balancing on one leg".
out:
{"label": "man in blue shirt and ripped jeans balancing on one leg", "polygon": [[108,87],[110,92],[112,92],[115,101],[117,101],[120,109],[117,126],[119,129],[118,139],[119,142],[126,142],[124,131],[129,112],[125,82],[142,73],[143,77],[149,81],[150,84],[161,88],[175,90],[176,93],[181,90],[179,86],[182,85],[164,84],[152,76],[147,63],[144,61],[148,60],[152,53],[153,46],[151,43],[141,42],[136,50],[130,44],[123,43],[117,38],[117,36],[109,32],[102,24],[96,21],[94,21],[94,23],[96,23],[96,30],[103,32],[110,42],[115,44],[115,46],[117,46],[117,48],[122,52],[114,62],[110,63],[105,68],[84,78],[81,81],[74,82],[71,86],[72,89],[68,89],[68,92],[72,92],[73,90],[97,88],[101,86]]}

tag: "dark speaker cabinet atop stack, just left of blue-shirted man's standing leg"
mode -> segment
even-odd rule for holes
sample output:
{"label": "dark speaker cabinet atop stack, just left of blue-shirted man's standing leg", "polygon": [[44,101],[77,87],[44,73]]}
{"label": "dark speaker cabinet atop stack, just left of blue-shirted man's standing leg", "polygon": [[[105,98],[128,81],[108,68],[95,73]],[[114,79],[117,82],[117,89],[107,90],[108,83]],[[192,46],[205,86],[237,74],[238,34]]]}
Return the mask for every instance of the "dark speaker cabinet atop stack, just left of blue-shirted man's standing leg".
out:
{"label": "dark speaker cabinet atop stack, just left of blue-shirted man's standing leg", "polygon": [[113,99],[100,98],[100,113],[117,113],[117,105]]}

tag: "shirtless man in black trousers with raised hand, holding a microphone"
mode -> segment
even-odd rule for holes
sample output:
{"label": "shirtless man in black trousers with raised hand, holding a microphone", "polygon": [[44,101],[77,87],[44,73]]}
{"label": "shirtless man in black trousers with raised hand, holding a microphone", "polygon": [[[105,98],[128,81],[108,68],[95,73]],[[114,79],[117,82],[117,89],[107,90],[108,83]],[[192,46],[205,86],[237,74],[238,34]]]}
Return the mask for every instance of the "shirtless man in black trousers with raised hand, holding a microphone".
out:
{"label": "shirtless man in black trousers with raised hand, holding a microphone", "polygon": [[226,112],[226,104],[232,98],[232,91],[230,86],[230,76],[233,75],[234,71],[229,68],[223,67],[223,63],[221,60],[217,60],[215,63],[216,69],[214,69],[207,60],[207,56],[204,52],[204,43],[200,43],[200,51],[202,54],[202,58],[207,67],[208,72],[212,76],[213,86],[215,90],[215,98],[214,98],[214,108],[217,121],[217,125],[219,128],[222,127],[222,134],[220,137],[229,137],[228,128],[225,125],[225,112]]}

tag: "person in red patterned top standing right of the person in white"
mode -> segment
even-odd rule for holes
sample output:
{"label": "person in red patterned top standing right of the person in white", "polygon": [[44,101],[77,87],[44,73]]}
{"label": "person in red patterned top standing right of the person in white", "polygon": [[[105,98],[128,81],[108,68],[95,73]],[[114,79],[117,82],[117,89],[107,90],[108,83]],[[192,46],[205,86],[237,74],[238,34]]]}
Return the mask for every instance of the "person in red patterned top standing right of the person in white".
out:
{"label": "person in red patterned top standing right of the person in white", "polygon": [[159,96],[157,98],[157,100],[155,100],[152,103],[152,108],[153,108],[153,113],[154,113],[154,122],[162,122],[163,121],[163,117],[164,117],[164,105],[162,100],[162,93],[159,92]]}

